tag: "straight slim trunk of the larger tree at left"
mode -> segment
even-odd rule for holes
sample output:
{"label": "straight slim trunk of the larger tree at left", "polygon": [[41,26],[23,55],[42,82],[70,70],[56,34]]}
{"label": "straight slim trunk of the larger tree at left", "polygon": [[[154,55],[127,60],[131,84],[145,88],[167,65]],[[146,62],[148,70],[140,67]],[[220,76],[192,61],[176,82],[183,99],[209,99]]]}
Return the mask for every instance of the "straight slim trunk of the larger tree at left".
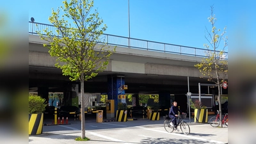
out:
{"label": "straight slim trunk of the larger tree at left", "polygon": [[84,129],[84,125],[85,125],[85,120],[84,120],[84,74],[81,74],[81,79],[80,79],[80,83],[81,83],[81,138],[85,138],[85,129]]}

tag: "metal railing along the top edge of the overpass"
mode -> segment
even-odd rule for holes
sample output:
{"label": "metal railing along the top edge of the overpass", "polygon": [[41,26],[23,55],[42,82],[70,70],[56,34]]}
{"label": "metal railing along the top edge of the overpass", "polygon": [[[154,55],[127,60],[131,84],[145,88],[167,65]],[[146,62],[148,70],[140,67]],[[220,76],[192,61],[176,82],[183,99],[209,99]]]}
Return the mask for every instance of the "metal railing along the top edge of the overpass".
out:
{"label": "metal railing along the top edge of the overpass", "polygon": [[[29,21],[29,33],[31,35],[38,35],[36,31],[40,31],[43,35],[46,33],[43,31],[44,29],[48,29],[48,31],[52,31],[52,35],[59,36],[56,32],[56,28],[51,24],[42,24],[38,22],[30,22]],[[61,36],[60,36],[61,37]],[[130,40],[130,45],[129,45]],[[182,54],[187,56],[198,56],[198,57],[207,57],[205,54],[207,52],[213,52],[209,49],[201,49],[196,47],[187,47],[182,45],[174,45],[174,44],[166,44],[162,42],[153,42],[149,40],[140,40],[137,38],[128,38],[125,36],[116,36],[103,34],[100,38],[99,43],[105,43],[108,45],[116,45],[119,47],[131,47],[133,49],[144,49],[147,51],[159,51],[173,54]],[[217,51],[220,52],[220,51]],[[223,60],[228,60],[228,52],[224,52],[222,58]]]}

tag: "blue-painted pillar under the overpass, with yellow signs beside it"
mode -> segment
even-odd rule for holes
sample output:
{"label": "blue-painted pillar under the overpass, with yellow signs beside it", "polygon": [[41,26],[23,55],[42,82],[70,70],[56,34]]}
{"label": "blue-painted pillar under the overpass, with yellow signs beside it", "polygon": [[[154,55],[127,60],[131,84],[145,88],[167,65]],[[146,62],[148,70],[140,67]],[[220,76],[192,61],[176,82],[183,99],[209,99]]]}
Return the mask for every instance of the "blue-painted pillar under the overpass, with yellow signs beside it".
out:
{"label": "blue-painted pillar under the overpass, with yellow signs beside it", "polygon": [[115,114],[118,109],[118,103],[126,104],[125,99],[120,99],[118,95],[125,95],[124,76],[108,76],[108,100],[115,100]]}

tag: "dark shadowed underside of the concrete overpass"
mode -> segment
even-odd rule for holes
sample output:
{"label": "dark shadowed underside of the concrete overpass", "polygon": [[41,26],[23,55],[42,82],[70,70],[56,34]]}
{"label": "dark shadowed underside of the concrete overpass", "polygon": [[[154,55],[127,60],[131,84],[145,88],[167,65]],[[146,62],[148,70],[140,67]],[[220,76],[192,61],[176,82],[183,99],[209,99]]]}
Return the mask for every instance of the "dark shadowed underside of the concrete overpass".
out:
{"label": "dark shadowed underside of the concrete overpass", "polygon": [[[188,77],[158,76],[147,74],[132,74],[125,72],[101,72],[97,77],[84,82],[85,93],[107,93],[108,76],[124,76],[128,90],[125,93],[160,93],[186,94],[188,92]],[[198,83],[209,83],[206,79],[189,77],[189,91],[198,93]],[[62,76],[58,68],[29,67],[29,92],[37,92],[38,87],[48,87],[49,92],[65,92],[72,84],[79,81],[70,81]],[[79,87],[80,91],[80,87]],[[202,93],[218,94],[218,88],[201,87]],[[227,90],[222,91],[227,94]]]}

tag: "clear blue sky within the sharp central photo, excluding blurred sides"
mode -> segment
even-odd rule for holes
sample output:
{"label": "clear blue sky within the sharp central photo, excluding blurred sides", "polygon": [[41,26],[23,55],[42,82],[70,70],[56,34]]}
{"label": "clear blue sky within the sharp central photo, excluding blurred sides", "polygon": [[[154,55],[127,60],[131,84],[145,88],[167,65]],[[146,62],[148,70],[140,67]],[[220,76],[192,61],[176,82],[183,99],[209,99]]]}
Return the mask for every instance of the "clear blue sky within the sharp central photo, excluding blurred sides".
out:
{"label": "clear blue sky within the sharp central photo, excluding blurred sides", "polygon": [[[51,9],[56,10],[62,0],[32,1],[29,3],[29,19],[51,24],[48,21]],[[218,19],[217,28],[228,25],[227,3],[223,1],[145,1],[130,0],[131,38],[152,40],[168,44],[204,48],[205,26],[211,29],[207,18],[211,15],[210,6]],[[95,0],[94,8],[107,24],[105,33],[119,36],[128,34],[128,0]],[[228,33],[227,33],[228,35]]]}

